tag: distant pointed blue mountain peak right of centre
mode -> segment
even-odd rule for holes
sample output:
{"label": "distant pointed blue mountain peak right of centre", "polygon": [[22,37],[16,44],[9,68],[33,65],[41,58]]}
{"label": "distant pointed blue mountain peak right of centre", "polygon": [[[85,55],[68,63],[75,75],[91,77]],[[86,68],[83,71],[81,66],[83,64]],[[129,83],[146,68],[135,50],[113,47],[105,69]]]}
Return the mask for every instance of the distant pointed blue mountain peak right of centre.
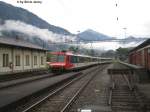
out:
{"label": "distant pointed blue mountain peak right of centre", "polygon": [[106,40],[106,39],[112,39],[111,37],[98,33],[94,30],[88,29],[84,32],[81,32],[77,35],[79,40],[82,41],[99,41],[99,40]]}

